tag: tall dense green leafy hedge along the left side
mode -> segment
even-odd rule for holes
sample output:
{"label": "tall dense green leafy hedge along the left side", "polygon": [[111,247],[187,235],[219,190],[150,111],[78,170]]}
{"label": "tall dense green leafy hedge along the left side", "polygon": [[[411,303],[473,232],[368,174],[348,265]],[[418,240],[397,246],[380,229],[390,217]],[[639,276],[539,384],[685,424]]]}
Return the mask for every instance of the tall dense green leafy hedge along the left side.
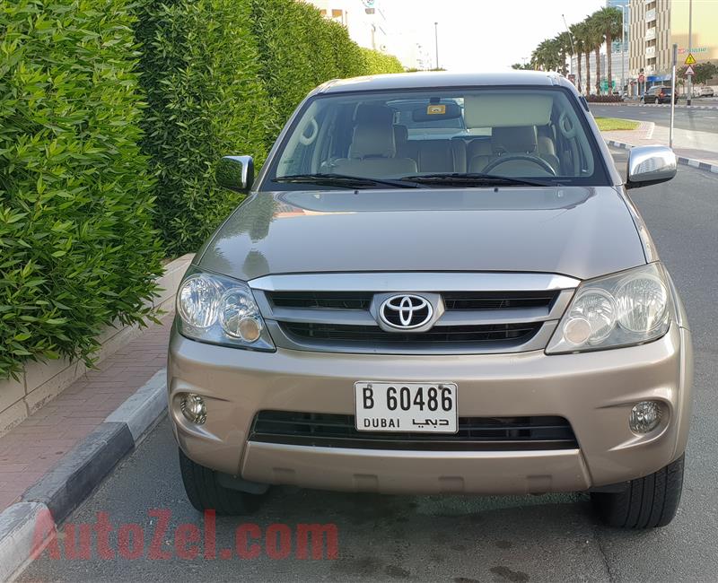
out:
{"label": "tall dense green leafy hedge along the left side", "polygon": [[0,378],[143,323],[162,253],[241,201],[223,154],[261,165],[313,87],[399,70],[294,0],[0,3]]}

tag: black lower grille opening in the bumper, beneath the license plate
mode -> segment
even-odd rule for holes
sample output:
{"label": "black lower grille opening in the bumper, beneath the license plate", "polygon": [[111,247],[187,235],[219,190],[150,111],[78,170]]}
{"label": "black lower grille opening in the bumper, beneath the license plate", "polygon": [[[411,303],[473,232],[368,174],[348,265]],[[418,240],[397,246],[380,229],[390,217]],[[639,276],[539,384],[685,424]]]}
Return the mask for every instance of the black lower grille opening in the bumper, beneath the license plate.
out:
{"label": "black lower grille opening in the bumper, beneath the license plate", "polygon": [[410,431],[357,431],[354,415],[260,411],[250,441],[318,448],[370,448],[447,451],[574,449],[571,424],[551,415],[460,417],[451,434]]}

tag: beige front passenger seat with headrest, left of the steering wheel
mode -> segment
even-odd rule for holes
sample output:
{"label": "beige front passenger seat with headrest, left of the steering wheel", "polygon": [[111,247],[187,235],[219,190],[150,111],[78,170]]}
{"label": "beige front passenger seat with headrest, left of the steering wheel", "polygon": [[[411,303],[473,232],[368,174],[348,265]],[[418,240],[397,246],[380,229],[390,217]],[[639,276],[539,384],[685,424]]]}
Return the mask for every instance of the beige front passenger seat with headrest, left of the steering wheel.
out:
{"label": "beige front passenger seat with headrest, left of the steering wheel", "polygon": [[367,178],[401,177],[416,174],[416,161],[396,158],[394,127],[375,121],[358,123],[354,128],[349,157],[332,164],[332,172]]}

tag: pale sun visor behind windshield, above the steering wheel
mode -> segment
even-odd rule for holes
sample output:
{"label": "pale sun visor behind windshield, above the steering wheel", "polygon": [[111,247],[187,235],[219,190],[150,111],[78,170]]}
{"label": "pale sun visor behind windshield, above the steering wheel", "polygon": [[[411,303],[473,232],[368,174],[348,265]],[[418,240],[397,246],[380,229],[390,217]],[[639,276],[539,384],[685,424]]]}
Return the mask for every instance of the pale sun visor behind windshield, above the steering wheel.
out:
{"label": "pale sun visor behind windshield, above the steering wheel", "polygon": [[484,93],[464,97],[464,121],[474,127],[546,126],[554,99],[527,91]]}

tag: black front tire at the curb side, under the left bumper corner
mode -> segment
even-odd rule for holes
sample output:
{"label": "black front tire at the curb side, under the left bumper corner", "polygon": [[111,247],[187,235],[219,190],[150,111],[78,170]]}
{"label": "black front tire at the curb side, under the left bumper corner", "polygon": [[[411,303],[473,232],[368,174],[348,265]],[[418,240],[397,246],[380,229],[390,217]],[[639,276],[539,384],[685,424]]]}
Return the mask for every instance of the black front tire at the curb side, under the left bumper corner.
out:
{"label": "black front tire at the curb side, under the left bumper corner", "polygon": [[263,497],[226,488],[215,470],[193,462],[181,449],[180,473],[189,501],[200,512],[215,510],[219,516],[249,514],[257,509]]}

